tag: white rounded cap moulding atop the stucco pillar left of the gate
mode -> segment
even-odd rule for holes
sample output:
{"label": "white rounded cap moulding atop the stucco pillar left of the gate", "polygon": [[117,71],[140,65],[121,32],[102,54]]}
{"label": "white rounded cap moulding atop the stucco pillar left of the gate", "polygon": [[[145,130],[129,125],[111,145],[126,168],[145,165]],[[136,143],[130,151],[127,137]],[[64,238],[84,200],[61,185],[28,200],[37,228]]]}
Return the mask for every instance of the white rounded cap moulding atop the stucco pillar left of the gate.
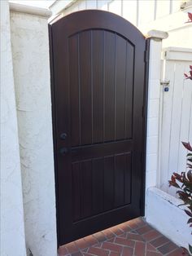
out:
{"label": "white rounded cap moulding atop the stucco pillar left of the gate", "polygon": [[32,7],[15,2],[9,2],[9,7],[10,11],[21,12],[30,15],[37,15],[45,18],[49,18],[52,15],[52,11],[46,8]]}

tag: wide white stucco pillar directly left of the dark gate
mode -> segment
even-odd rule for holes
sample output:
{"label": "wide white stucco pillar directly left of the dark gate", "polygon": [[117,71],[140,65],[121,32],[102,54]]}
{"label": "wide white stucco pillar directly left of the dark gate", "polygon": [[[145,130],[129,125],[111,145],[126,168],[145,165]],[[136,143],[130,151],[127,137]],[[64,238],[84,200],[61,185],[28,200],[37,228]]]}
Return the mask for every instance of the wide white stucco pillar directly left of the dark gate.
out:
{"label": "wide white stucco pillar directly left of the dark gate", "polygon": [[11,6],[25,237],[34,256],[57,255],[47,15]]}

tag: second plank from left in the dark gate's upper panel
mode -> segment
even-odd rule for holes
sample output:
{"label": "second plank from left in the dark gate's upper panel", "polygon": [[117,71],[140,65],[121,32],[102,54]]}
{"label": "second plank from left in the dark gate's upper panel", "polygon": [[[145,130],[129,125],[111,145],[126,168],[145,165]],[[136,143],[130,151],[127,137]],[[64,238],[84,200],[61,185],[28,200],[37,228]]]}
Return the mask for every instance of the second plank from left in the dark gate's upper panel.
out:
{"label": "second plank from left in the dark gate's upper panel", "polygon": [[92,143],[91,31],[80,33],[81,144]]}

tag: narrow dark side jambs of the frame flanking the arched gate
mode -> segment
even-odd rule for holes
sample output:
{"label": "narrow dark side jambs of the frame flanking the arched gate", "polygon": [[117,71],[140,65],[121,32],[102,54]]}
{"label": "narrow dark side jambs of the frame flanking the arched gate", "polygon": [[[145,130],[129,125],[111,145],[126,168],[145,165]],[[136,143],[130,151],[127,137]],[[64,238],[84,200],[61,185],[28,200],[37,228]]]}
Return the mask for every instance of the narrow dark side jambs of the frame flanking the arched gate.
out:
{"label": "narrow dark side jambs of the frame flanking the arched gate", "polygon": [[[52,108],[52,127],[53,127],[53,144],[54,144],[54,160],[55,160],[55,201],[56,201],[56,227],[57,227],[57,245],[59,248],[59,193],[58,193],[58,166],[57,166],[57,139],[56,139],[56,113],[55,113],[55,81],[54,81],[54,59],[52,47],[52,28],[48,24],[49,29],[49,46],[50,46],[50,91],[51,91],[51,108]],[[149,80],[149,56],[150,56],[151,38],[146,38],[146,50],[143,56],[145,60],[145,77],[144,77],[144,94],[143,94],[143,127],[142,127],[142,155],[141,161],[143,166],[141,177],[141,195],[140,210],[141,216],[145,215],[146,200],[146,125],[147,125],[147,104],[148,104],[148,80]]]}

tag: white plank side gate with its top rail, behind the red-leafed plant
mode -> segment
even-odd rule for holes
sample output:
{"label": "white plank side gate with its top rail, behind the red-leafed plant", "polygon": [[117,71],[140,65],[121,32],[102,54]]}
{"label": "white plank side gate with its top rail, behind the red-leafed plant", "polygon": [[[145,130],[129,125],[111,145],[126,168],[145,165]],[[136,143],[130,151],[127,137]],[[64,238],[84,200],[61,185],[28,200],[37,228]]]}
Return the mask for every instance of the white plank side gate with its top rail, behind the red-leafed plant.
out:
{"label": "white plank side gate with its top rail, behind the red-leafed plant", "polygon": [[184,78],[192,64],[192,49],[168,48],[163,52],[162,80],[169,81],[168,91],[161,88],[159,121],[159,188],[175,196],[168,188],[172,172],[185,171],[186,149],[181,141],[192,143],[192,81]]}

